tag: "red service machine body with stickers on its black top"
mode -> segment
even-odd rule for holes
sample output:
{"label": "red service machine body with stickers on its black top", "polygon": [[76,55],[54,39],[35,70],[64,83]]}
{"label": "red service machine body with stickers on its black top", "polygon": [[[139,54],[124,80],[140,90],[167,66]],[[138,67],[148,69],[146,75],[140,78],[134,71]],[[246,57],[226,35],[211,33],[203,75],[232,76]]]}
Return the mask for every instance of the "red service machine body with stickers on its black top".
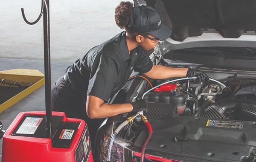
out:
{"label": "red service machine body with stickers on its black top", "polygon": [[[42,138],[44,133],[38,128],[44,124],[44,116],[45,112],[34,111],[15,118],[3,136],[2,162],[93,162],[89,132],[83,120],[52,112],[52,117],[60,117],[60,122],[51,139]],[[32,125],[28,127],[28,123]],[[69,125],[77,125],[76,130],[69,129]],[[32,132],[39,137],[29,134]]]}

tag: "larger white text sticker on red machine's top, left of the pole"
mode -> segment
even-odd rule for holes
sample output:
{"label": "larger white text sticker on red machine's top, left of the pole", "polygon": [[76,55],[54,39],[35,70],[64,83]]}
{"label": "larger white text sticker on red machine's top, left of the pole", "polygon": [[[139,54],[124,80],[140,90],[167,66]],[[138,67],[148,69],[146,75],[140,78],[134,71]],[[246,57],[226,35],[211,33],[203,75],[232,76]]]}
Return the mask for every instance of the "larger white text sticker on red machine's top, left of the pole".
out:
{"label": "larger white text sticker on red machine's top, left of the pole", "polygon": [[39,124],[43,118],[26,117],[23,123],[20,125],[16,133],[20,134],[35,134]]}

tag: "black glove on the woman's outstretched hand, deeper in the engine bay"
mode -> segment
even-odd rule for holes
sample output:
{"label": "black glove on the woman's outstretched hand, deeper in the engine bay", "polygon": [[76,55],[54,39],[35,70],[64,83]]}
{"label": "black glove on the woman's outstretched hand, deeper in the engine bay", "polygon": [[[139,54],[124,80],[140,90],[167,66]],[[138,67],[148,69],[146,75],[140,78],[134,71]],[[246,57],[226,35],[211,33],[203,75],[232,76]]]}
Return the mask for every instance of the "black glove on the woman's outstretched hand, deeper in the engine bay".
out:
{"label": "black glove on the woman's outstretched hand, deeper in the engine bay", "polygon": [[209,80],[209,76],[206,73],[201,72],[200,70],[197,70],[197,69],[190,69],[190,68],[188,69],[186,77],[188,78],[197,77],[196,79],[192,79],[192,81],[196,83],[204,83]]}

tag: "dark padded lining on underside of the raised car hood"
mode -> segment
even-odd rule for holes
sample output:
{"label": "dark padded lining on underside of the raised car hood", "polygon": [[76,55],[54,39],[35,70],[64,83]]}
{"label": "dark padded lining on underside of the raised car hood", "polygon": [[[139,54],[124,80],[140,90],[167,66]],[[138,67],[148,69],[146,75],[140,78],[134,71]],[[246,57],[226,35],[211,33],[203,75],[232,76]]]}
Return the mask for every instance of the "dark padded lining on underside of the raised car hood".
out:
{"label": "dark padded lining on underside of the raised car hood", "polygon": [[208,29],[223,38],[256,31],[255,0],[139,0],[137,4],[154,7],[176,41],[201,36]]}

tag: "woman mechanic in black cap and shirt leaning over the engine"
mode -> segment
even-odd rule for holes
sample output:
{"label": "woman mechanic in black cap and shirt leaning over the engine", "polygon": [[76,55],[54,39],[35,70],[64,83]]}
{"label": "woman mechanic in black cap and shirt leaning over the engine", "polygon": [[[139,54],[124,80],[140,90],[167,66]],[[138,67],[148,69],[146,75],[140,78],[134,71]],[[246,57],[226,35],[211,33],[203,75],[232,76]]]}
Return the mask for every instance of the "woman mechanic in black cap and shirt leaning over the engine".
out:
{"label": "woman mechanic in black cap and shirt leaning over the engine", "polygon": [[143,100],[107,104],[128,81],[133,69],[152,79],[197,76],[198,82],[204,82],[207,77],[195,69],[152,64],[146,50],[153,49],[160,39],[172,34],[172,30],[161,23],[154,8],[133,7],[131,2],[122,1],[116,7],[115,20],[125,31],[90,49],[68,67],[66,74],[52,87],[52,110],[64,112],[69,118],[83,119],[88,125],[91,142],[98,128],[95,119],[146,108]]}

